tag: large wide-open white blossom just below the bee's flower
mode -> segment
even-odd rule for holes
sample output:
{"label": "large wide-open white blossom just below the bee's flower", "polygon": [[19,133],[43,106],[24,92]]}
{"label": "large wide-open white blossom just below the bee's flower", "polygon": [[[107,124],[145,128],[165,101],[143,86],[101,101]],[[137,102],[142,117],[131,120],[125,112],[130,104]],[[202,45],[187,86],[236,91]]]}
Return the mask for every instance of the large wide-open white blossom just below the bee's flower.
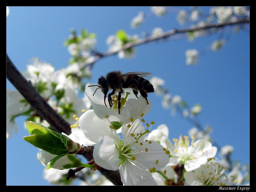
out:
{"label": "large wide-open white blossom just below the bee's flower", "polygon": [[[79,124],[84,135],[95,142],[95,163],[108,170],[119,170],[124,185],[156,185],[150,172],[162,169],[169,157],[153,140],[144,140],[145,131],[139,120],[123,124],[123,138],[109,122],[99,119],[93,110],[86,111]],[[152,126],[152,124],[151,124]]]}

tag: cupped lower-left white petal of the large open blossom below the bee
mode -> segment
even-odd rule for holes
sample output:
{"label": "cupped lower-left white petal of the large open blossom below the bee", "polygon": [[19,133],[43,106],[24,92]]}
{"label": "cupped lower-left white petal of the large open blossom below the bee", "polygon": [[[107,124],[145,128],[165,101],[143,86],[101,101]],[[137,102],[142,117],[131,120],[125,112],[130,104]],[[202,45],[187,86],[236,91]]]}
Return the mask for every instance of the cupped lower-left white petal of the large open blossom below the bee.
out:
{"label": "cupped lower-left white petal of the large open blossom below the bee", "polygon": [[104,136],[94,147],[93,158],[95,163],[107,170],[118,170],[121,160],[115,145],[110,137]]}

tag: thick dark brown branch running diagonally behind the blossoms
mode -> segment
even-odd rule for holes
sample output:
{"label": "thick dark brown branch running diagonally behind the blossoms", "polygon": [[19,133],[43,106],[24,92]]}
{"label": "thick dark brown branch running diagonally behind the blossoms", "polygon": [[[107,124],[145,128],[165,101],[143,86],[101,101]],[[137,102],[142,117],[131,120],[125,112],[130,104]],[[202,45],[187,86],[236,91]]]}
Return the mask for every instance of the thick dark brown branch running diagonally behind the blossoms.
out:
{"label": "thick dark brown branch running diagonally behind the blossoms", "polygon": [[[30,81],[27,81],[13,65],[12,61],[6,54],[6,77],[21,93],[21,95],[36,110],[38,115],[45,119],[56,132],[64,132],[67,135],[71,133],[70,124],[64,120],[53,108],[44,100],[44,98],[36,91]],[[93,159],[93,146],[87,147],[87,153],[84,157],[90,161]],[[123,185],[119,170],[109,171],[100,168],[99,171],[114,185]]]}

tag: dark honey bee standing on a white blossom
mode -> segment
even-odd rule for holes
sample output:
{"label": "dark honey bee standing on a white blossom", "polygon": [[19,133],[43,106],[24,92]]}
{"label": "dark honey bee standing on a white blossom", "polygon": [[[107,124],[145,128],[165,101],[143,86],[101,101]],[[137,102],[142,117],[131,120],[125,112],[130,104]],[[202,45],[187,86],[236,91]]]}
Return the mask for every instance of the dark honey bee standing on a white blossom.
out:
{"label": "dark honey bee standing on a white blossom", "polygon": [[[101,89],[101,91],[104,93],[104,103],[106,105],[106,97],[108,94],[109,89],[112,89],[112,92],[108,94],[108,103],[110,108],[113,105],[111,96],[115,94],[116,91],[118,91],[118,114],[120,114],[120,108],[121,108],[121,94],[123,93],[123,88],[132,88],[132,91],[134,95],[138,98],[138,92],[140,92],[141,96],[146,99],[146,102],[148,104],[148,94],[149,92],[154,92],[153,85],[147,80],[144,79],[142,76],[148,76],[148,72],[129,72],[129,73],[122,73],[121,71],[111,71],[107,73],[107,75],[100,76],[98,79],[98,85],[90,85],[88,87],[92,86],[98,86],[97,89]],[[95,92],[97,91],[95,90]],[[93,93],[93,96],[95,94]]]}

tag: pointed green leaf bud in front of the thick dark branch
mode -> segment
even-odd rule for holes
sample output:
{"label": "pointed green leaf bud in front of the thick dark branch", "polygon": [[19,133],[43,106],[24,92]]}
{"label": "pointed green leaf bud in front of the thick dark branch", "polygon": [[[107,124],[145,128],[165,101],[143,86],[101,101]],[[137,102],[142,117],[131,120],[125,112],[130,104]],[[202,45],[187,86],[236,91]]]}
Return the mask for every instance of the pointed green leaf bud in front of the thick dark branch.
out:
{"label": "pointed green leaf bud in front of the thick dark branch", "polygon": [[23,139],[35,147],[54,155],[61,155],[69,152],[70,139],[67,136],[52,131],[43,125],[32,121],[27,122],[27,128],[31,135],[25,136]]}

